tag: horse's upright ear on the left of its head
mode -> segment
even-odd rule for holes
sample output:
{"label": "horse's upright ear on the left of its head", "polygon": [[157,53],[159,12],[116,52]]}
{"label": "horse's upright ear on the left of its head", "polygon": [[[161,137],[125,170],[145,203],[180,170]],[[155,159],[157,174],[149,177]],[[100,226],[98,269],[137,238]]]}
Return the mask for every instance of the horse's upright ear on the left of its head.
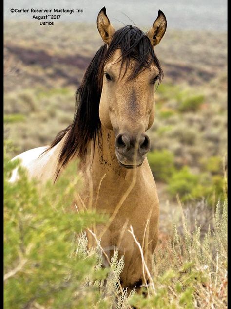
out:
{"label": "horse's upright ear on the left of its head", "polygon": [[103,39],[103,41],[106,44],[109,44],[116,30],[114,29],[113,25],[109,21],[109,18],[107,17],[105,6],[98,13],[97,28],[98,28],[98,32],[101,35],[101,38]]}

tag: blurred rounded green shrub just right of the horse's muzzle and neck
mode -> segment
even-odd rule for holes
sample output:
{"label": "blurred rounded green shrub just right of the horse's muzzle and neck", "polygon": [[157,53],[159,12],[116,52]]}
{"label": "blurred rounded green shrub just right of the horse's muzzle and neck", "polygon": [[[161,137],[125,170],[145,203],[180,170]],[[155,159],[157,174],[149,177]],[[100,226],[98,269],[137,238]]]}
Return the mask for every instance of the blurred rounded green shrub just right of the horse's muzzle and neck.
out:
{"label": "blurred rounded green shrub just right of the horse's muzzle and neck", "polygon": [[147,155],[155,180],[167,181],[174,170],[173,154],[168,150],[154,150]]}

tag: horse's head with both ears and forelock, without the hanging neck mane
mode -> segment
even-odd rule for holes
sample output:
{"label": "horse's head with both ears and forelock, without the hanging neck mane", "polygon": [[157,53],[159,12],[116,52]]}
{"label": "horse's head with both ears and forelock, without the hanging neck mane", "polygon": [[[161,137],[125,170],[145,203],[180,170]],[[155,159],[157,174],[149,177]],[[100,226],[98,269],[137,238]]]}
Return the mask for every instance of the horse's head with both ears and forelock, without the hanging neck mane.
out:
{"label": "horse's head with both ears and forelock, without the hanging neck mane", "polygon": [[99,116],[101,124],[114,131],[116,156],[126,168],[140,166],[150,149],[146,131],[154,121],[154,84],[162,77],[154,46],[166,26],[161,11],[147,34],[134,26],[115,31],[106,9],[98,14],[97,27],[107,44]]}

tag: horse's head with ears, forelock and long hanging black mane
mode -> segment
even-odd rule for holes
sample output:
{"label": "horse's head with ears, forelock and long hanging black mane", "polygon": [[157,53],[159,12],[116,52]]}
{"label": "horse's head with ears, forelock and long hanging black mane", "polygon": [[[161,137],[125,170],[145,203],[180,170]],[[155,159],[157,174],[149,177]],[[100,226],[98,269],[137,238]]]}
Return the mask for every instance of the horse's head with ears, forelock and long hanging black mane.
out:
{"label": "horse's head with ears, forelock and long hanging black mane", "polygon": [[51,144],[50,148],[65,136],[60,166],[74,155],[85,161],[89,143],[93,141],[95,147],[101,125],[115,133],[121,166],[142,164],[150,149],[146,131],[154,121],[154,84],[163,75],[154,46],[161,41],[166,26],[166,18],[159,11],[147,34],[131,25],[115,31],[106,9],[99,12],[97,27],[106,44],[96,52],[77,89],[73,123]]}

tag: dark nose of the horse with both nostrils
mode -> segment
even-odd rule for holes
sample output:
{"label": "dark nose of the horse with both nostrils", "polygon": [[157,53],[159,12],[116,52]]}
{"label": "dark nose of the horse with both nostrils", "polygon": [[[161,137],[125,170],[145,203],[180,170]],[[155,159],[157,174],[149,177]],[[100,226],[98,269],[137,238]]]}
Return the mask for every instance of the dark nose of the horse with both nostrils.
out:
{"label": "dark nose of the horse with both nostrils", "polygon": [[119,134],[115,140],[115,147],[121,155],[124,155],[129,150],[134,150],[136,147],[138,154],[144,155],[150,149],[150,140],[147,134],[142,134],[138,140],[127,134]]}

